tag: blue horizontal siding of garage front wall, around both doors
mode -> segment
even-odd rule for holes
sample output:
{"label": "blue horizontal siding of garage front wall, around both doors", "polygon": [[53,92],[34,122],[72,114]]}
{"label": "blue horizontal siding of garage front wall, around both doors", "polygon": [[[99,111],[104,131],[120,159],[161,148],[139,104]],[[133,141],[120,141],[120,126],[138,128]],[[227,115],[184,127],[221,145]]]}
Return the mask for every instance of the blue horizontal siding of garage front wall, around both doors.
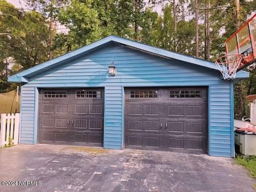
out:
{"label": "blue horizontal siding of garage front wall, around both doors", "polygon": [[[114,60],[116,76],[109,76]],[[104,147],[123,148],[124,87],[209,86],[209,154],[231,156],[230,82],[216,71],[110,45],[37,74],[22,86],[21,143],[34,143],[36,87],[105,87]]]}

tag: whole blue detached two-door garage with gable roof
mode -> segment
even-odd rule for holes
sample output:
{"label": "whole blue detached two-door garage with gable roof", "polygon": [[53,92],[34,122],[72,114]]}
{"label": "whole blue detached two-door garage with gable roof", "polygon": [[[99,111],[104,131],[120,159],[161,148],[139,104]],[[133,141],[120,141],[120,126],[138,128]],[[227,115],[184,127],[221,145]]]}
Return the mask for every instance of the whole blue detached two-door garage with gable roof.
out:
{"label": "whole blue detached two-door garage with gable roof", "polygon": [[209,61],[108,36],[9,82],[22,85],[20,143],[234,156],[235,82]]}

